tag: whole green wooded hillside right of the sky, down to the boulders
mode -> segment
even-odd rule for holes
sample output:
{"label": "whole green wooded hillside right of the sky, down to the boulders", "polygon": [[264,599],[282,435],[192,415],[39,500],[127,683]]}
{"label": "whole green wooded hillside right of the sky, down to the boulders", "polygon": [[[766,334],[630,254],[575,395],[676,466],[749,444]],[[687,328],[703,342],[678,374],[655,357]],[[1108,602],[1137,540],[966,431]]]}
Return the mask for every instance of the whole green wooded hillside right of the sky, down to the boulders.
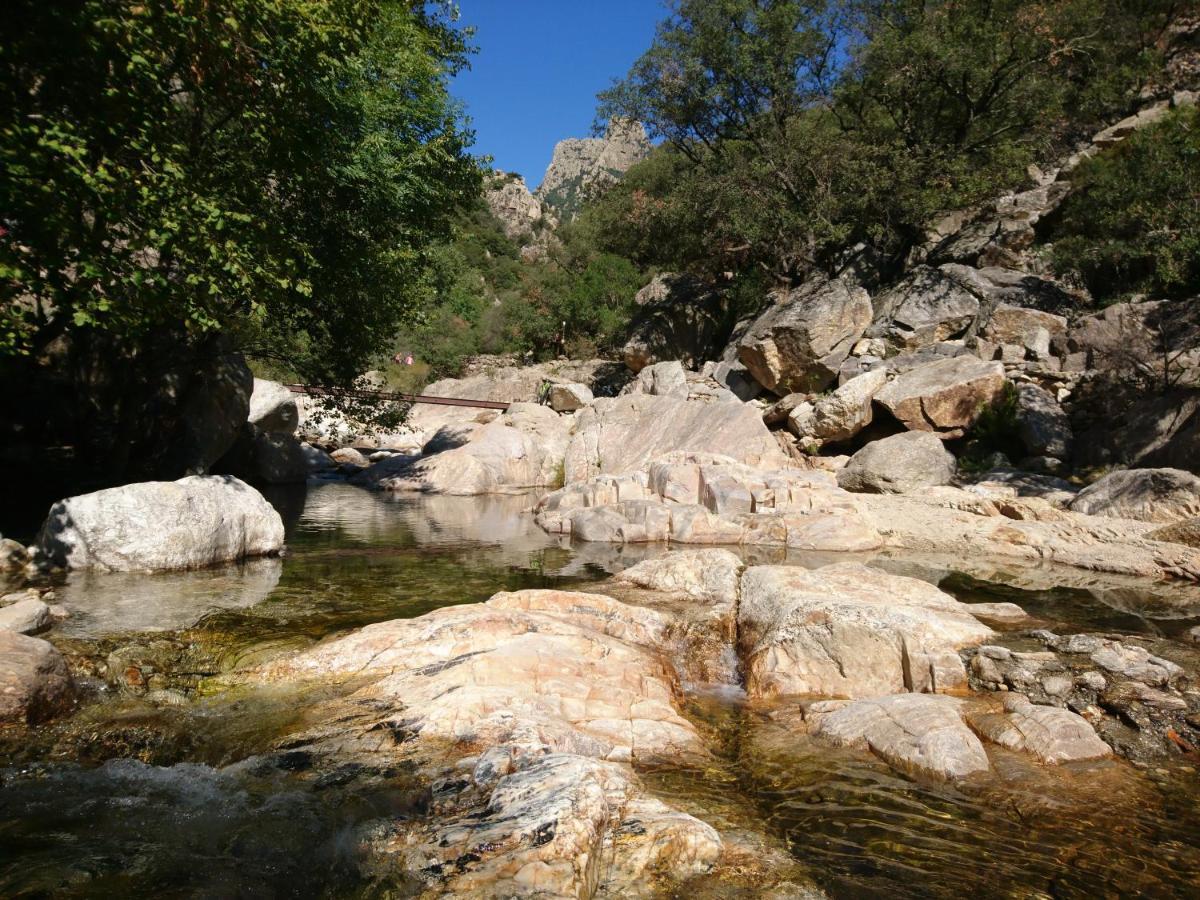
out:
{"label": "whole green wooded hillside right of the sky, down to the boulders", "polygon": [[[474,352],[611,353],[637,282],[659,271],[718,289],[731,323],[815,272],[892,283],[938,227],[1052,181],[1091,134],[1194,85],[1188,12],[1170,0],[672,4],[598,113],[644,122],[650,157],[546,226],[554,236],[524,259],[481,209],[460,222],[428,325],[404,341],[438,372]],[[1184,109],[1084,162],[1022,264],[1081,310],[1194,295],[1198,148]]]}

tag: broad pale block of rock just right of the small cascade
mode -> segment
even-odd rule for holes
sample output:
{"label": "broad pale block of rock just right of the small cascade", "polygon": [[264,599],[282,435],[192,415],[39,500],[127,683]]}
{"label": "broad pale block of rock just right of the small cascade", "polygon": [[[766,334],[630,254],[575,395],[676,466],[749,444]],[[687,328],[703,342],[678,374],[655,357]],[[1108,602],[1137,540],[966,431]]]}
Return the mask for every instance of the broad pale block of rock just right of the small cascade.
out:
{"label": "broad pale block of rock just right of the small cascade", "polygon": [[858,563],[742,576],[738,646],[751,697],[960,690],[959,649],[991,634],[932,584]]}

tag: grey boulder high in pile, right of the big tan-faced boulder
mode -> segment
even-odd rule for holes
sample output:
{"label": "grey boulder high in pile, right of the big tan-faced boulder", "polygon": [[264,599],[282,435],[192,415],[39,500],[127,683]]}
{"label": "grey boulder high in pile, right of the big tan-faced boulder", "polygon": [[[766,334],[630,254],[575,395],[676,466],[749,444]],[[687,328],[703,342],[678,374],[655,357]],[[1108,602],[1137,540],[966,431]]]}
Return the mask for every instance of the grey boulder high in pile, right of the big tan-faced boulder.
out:
{"label": "grey boulder high in pile, right of the big tan-faced boulder", "polygon": [[905,350],[956,337],[979,316],[979,300],[937,269],[919,266],[875,298],[872,329]]}

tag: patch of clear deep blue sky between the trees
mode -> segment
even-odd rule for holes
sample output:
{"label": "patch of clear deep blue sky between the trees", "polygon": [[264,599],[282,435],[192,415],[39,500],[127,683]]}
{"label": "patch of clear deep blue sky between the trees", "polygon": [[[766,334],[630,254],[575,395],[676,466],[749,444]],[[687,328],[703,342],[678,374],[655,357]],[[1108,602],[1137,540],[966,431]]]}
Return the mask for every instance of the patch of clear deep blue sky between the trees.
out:
{"label": "patch of clear deep blue sky between the trees", "polygon": [[541,182],[554,144],[590,133],[595,95],[650,44],[661,0],[458,0],[479,53],[452,85],[476,154]]}

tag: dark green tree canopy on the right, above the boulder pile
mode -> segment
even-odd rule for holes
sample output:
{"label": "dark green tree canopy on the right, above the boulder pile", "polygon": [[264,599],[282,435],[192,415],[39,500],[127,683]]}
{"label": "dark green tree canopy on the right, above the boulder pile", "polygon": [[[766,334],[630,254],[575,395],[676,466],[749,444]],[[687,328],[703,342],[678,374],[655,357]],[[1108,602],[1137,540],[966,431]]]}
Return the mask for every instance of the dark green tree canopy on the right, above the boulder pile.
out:
{"label": "dark green tree canopy on the right, above the boulder pile", "polygon": [[599,119],[644,121],[660,158],[593,216],[646,264],[796,281],[851,247],[899,263],[936,214],[1123,112],[1176,7],[674,0],[600,95]]}

